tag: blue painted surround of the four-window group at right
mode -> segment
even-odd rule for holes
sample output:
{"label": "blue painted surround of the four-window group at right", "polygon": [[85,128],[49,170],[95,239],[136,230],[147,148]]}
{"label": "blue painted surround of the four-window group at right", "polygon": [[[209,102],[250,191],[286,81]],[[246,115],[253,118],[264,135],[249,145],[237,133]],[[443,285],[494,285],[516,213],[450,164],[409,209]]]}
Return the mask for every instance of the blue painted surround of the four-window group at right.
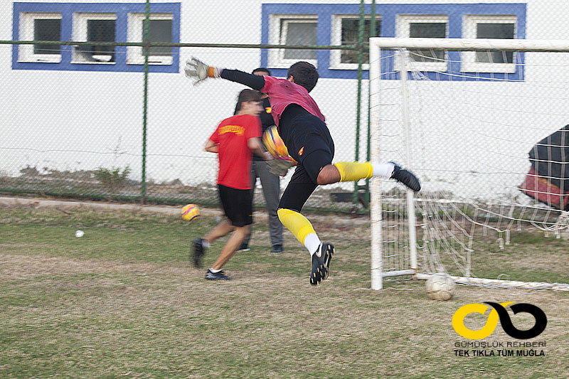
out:
{"label": "blue painted surround of the four-window group at right", "polygon": [[[364,6],[366,15],[371,13],[371,5]],[[268,44],[275,41],[270,35],[270,22],[272,15],[309,15],[317,18],[317,45],[334,45],[331,43],[332,19],[334,15],[357,15],[359,4],[263,4],[261,43]],[[512,16],[516,20],[517,39],[526,38],[526,4],[378,4],[376,17],[381,20],[382,37],[395,37],[398,15],[445,15],[447,16],[447,38],[470,38],[464,36],[464,20],[467,16]],[[387,56],[388,52],[385,52]],[[331,53],[329,50],[318,50],[316,62],[321,78],[345,78],[356,79],[357,70],[342,70],[331,68]],[[461,55],[457,51],[448,52],[447,73],[461,73],[473,78],[495,78],[504,80],[521,80],[523,78],[523,63],[525,56],[519,53],[516,58],[514,73],[469,73],[461,71]],[[271,68],[271,72],[277,76],[285,76],[286,68],[274,68],[270,63],[268,49],[261,51],[261,66]],[[386,63],[393,65],[393,63]],[[395,74],[398,75],[398,74]],[[435,75],[426,73],[432,80],[449,80],[450,75]],[[363,71],[363,78],[368,78],[368,70]]]}

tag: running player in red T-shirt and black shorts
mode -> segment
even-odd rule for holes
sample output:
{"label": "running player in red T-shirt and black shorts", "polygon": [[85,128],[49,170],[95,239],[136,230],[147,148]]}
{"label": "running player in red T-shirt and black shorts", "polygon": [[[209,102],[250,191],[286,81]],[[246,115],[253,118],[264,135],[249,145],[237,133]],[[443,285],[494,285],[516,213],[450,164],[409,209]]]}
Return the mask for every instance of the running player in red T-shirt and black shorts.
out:
{"label": "running player in red T-shirt and black shorts", "polygon": [[225,216],[229,219],[213,228],[205,237],[193,241],[193,264],[201,266],[201,257],[211,242],[231,232],[221,253],[206,272],[206,279],[228,280],[221,267],[233,256],[252,223],[252,196],[250,166],[252,154],[271,159],[260,142],[261,124],[258,114],[262,111],[260,93],[243,90],[238,97],[237,114],[224,119],[206,144],[206,151],[219,157],[218,189]]}

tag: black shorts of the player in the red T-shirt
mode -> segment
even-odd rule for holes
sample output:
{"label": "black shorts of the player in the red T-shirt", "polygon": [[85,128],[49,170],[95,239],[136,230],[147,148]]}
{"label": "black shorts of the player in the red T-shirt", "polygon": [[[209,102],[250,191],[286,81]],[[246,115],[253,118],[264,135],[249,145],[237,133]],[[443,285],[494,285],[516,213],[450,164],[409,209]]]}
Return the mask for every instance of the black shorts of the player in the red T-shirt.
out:
{"label": "black shorts of the player in the red T-shirt", "polygon": [[218,184],[219,198],[225,216],[233,226],[251,225],[253,222],[253,199],[251,190],[240,190]]}

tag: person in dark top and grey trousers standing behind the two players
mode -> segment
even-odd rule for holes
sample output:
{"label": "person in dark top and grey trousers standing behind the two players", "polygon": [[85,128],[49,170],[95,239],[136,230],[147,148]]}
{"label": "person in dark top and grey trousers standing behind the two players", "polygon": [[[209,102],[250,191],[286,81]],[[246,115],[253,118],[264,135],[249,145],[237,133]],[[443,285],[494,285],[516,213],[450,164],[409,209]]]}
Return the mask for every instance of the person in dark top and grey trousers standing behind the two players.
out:
{"label": "person in dark top and grey trousers standing behind the two players", "polygon": [[[271,75],[267,68],[255,68],[252,70],[253,75]],[[259,114],[261,119],[262,132],[275,124],[275,120],[271,114],[271,104],[266,94],[261,95],[262,112]],[[280,196],[280,178],[269,171],[267,161],[261,159],[257,155],[253,155],[251,164],[252,191],[255,192],[257,178],[261,181],[262,193],[265,196],[265,204],[267,204],[267,214],[269,216],[269,233],[271,238],[272,253],[282,252],[282,223],[277,215],[277,206],[279,205]],[[249,241],[251,239],[251,231],[243,240],[239,247],[239,251],[249,250]]]}

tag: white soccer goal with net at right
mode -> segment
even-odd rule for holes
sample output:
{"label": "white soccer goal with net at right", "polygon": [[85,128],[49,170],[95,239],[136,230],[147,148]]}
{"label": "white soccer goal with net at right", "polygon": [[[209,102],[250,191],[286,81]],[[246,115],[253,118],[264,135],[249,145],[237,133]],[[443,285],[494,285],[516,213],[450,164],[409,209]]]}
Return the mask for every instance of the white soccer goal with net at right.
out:
{"label": "white soccer goal with net at right", "polygon": [[422,181],[417,195],[371,181],[372,289],[447,272],[464,284],[569,290],[480,264],[511,233],[569,246],[568,62],[569,41],[370,39],[371,160]]}

